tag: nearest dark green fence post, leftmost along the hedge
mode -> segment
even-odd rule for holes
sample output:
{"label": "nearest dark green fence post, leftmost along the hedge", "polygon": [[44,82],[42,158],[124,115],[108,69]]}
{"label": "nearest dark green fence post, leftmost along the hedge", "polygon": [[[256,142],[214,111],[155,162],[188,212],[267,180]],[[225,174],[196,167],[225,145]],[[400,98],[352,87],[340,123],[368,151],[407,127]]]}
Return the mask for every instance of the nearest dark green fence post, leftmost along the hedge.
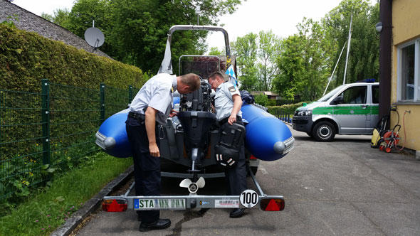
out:
{"label": "nearest dark green fence post, leftmost along the hedge", "polygon": [[50,163],[51,147],[50,147],[50,82],[47,79],[41,80],[42,87],[42,163],[44,165]]}

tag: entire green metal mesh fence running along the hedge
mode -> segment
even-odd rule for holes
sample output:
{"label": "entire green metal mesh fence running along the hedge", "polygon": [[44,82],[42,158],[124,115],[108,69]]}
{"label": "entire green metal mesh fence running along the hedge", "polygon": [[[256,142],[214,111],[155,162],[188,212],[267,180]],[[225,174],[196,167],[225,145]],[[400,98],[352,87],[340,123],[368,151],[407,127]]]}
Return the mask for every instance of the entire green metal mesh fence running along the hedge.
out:
{"label": "entire green metal mesh fence running along the hedge", "polygon": [[42,92],[0,90],[0,200],[26,195],[29,186],[99,151],[95,132],[127,108],[139,89],[101,84],[98,90],[42,80]]}

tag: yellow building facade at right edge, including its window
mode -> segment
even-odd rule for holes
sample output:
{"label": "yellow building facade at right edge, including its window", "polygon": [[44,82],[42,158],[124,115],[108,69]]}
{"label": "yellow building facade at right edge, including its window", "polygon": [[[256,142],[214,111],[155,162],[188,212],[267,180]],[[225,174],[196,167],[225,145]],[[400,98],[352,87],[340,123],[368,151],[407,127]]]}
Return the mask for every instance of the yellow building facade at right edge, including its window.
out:
{"label": "yellow building facade at right edge, including its window", "polygon": [[392,1],[391,128],[420,156],[420,1]]}

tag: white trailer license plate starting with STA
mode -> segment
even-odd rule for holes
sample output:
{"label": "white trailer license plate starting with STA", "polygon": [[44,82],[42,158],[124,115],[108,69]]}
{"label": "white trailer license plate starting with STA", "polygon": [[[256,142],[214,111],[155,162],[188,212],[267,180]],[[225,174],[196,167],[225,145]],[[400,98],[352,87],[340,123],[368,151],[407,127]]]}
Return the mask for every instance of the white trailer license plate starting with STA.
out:
{"label": "white trailer license plate starting with STA", "polygon": [[134,208],[137,210],[186,209],[185,198],[135,198]]}

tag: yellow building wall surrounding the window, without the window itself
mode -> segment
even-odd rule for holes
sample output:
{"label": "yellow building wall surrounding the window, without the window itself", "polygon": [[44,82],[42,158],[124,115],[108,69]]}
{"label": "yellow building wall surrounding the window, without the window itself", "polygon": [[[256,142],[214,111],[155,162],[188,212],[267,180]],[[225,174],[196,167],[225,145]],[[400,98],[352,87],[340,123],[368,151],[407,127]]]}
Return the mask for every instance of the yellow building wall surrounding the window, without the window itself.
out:
{"label": "yellow building wall surrounding the window, without the window itself", "polygon": [[[397,103],[398,46],[420,37],[420,1],[392,1],[392,83],[391,104],[399,112],[399,135],[405,140],[406,148],[420,151],[420,103]],[[409,111],[409,113],[408,113]],[[405,117],[404,117],[405,113]],[[404,118],[404,119],[403,119]],[[398,122],[397,112],[391,112],[391,128]],[[405,134],[404,134],[405,128]]]}

